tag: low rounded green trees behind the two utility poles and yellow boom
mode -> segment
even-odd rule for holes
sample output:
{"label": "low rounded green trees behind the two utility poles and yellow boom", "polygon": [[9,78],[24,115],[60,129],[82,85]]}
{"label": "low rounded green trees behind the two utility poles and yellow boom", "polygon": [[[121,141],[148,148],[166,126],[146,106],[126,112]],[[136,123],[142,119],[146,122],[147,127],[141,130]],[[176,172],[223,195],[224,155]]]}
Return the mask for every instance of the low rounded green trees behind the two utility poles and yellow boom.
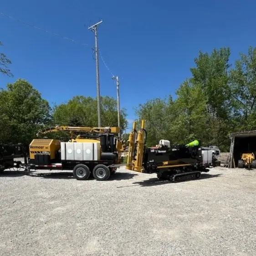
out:
{"label": "low rounded green trees behind the two utility poles and yellow boom", "polygon": [[[55,107],[53,118],[58,125],[77,123],[97,127],[97,100],[92,97],[73,97],[67,103]],[[113,97],[101,97],[101,119],[104,127],[118,126],[117,102]],[[127,126],[125,109],[121,110],[120,123],[123,131]]]}

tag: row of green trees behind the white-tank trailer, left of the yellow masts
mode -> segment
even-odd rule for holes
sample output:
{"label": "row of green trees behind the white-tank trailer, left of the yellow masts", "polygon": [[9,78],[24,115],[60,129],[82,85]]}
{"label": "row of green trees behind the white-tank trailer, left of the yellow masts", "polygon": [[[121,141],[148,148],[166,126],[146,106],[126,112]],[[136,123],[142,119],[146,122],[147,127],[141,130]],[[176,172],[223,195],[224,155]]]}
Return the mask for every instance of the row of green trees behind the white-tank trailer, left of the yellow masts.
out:
{"label": "row of green trees behind the white-tank trailer, left of the yellow masts", "polygon": [[[66,103],[50,107],[49,102],[27,81],[18,79],[0,89],[0,142],[29,144],[39,130],[56,125],[97,127],[97,100],[76,96]],[[102,126],[118,126],[117,103],[113,97],[101,97]],[[121,129],[127,125],[121,110]],[[49,136],[49,135],[44,135]],[[54,133],[49,138],[65,137]],[[66,133],[66,136],[69,134]]]}

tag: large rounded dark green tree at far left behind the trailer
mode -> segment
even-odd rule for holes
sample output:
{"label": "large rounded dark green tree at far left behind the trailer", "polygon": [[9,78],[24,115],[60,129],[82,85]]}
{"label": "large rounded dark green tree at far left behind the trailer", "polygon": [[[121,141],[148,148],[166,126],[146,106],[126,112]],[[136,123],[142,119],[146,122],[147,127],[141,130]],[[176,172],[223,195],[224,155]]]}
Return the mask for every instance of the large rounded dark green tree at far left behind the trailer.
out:
{"label": "large rounded dark green tree at far left behind the trailer", "polygon": [[[50,122],[49,103],[27,81],[18,79],[0,90],[0,141],[28,144]],[[7,131],[7,132],[6,132]]]}

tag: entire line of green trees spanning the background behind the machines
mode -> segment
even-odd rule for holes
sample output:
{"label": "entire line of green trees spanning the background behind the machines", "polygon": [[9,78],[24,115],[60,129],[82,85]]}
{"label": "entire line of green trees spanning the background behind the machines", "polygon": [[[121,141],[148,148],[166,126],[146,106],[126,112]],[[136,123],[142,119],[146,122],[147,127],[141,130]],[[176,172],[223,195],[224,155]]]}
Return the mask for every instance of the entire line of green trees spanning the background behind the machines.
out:
{"label": "entire line of green trees spanning the background behind the machines", "polygon": [[[1,45],[1,43],[0,43]],[[12,76],[11,61],[0,53],[0,73]],[[175,98],[154,98],[135,109],[146,120],[147,144],[160,139],[184,144],[200,138],[203,145],[229,149],[229,133],[256,129],[256,48],[241,53],[232,66],[230,48],[199,52],[191,76],[181,83]],[[101,99],[102,126],[117,126],[117,102]],[[121,129],[127,128],[121,110]],[[18,79],[0,89],[0,142],[30,143],[39,129],[55,125],[97,127],[97,100],[76,96],[50,106],[28,81]],[[127,138],[127,134],[124,134]]]}

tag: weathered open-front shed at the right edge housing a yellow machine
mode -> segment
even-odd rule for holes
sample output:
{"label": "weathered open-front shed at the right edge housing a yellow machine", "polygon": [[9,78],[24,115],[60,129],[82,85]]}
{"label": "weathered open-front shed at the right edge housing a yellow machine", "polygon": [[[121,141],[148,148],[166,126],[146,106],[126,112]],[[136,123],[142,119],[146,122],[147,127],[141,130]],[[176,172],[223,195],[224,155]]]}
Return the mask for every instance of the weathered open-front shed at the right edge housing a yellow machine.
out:
{"label": "weathered open-front shed at the right edge housing a yellow machine", "polygon": [[225,167],[236,168],[242,153],[256,152],[256,131],[229,134],[230,153]]}

